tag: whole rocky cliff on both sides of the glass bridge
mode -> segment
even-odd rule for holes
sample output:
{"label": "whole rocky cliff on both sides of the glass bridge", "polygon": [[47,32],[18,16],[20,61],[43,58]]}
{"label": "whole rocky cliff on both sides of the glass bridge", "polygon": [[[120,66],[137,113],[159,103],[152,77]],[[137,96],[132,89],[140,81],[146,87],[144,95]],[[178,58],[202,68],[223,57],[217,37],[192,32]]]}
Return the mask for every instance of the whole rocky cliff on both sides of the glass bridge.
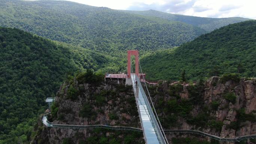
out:
{"label": "whole rocky cliff on both sides of the glass bridge", "polygon": [[[121,79],[106,81],[106,85],[70,79],[57,92],[49,120],[56,124],[140,128],[132,87],[124,83]],[[226,138],[256,134],[256,79],[226,76],[189,86],[160,83],[149,86],[149,91],[164,129],[196,129]],[[46,128],[40,122],[37,129],[33,144],[144,143],[141,132]],[[209,140],[198,135],[166,135],[170,143],[179,142],[172,138],[181,137]]]}

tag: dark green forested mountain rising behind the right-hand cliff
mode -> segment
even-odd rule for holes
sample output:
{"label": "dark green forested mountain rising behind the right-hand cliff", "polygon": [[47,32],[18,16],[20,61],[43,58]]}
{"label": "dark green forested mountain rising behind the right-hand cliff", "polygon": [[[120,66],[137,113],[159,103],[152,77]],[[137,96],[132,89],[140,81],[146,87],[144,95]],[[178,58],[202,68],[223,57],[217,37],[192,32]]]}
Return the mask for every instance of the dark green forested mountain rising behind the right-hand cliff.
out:
{"label": "dark green forested mountain rising behind the right-hand cliff", "polygon": [[178,48],[159,50],[141,59],[151,79],[189,80],[239,73],[256,77],[256,21],[230,24]]}

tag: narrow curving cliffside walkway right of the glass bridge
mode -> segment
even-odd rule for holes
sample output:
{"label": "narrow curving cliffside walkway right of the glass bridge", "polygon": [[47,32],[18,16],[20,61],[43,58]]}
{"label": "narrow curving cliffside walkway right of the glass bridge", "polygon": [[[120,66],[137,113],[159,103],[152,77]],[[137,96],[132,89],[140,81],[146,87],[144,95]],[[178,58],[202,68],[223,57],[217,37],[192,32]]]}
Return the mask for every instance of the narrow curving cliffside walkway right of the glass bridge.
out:
{"label": "narrow curving cliffside walkway right of the glass bridge", "polygon": [[209,137],[212,138],[214,140],[218,140],[218,141],[242,141],[242,140],[246,140],[246,139],[250,139],[250,138],[256,138],[256,135],[244,135],[244,136],[239,136],[239,137],[235,137],[235,138],[221,138],[218,137],[216,135],[211,135],[208,134],[206,132],[201,132],[201,131],[197,131],[197,130],[192,130],[192,129],[170,129],[170,130],[164,130],[165,133],[191,133],[191,134],[198,134],[198,135],[202,135],[205,137]]}

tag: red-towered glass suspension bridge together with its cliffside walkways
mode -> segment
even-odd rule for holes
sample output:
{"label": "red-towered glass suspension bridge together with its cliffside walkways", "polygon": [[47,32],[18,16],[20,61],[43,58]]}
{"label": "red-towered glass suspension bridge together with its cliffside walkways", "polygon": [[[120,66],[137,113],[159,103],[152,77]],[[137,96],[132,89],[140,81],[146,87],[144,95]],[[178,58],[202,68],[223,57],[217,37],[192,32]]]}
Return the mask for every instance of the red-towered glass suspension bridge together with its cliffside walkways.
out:
{"label": "red-towered glass suspension bridge together with its cliffside walkways", "polygon": [[[146,144],[168,144],[165,133],[191,133],[198,134],[205,137],[209,137],[218,141],[241,141],[250,138],[256,138],[256,135],[246,135],[235,138],[221,138],[215,135],[207,134],[205,132],[189,130],[189,129],[176,129],[176,130],[164,130],[161,126],[161,123],[158,119],[158,115],[155,111],[152,99],[150,97],[149,91],[147,89],[146,83],[149,83],[145,80],[145,74],[143,74],[140,61],[138,57],[138,50],[128,50],[128,64],[127,64],[127,74],[106,74],[105,79],[125,79],[126,84],[132,85],[134,96],[136,99],[136,104],[138,108],[138,114],[140,116],[141,129],[126,127],[126,126],[108,126],[108,125],[61,125],[54,124],[47,120],[47,117],[43,116],[43,124],[48,127],[58,127],[58,128],[107,128],[107,129],[116,129],[116,130],[130,130],[130,131],[140,131],[143,132],[144,140]],[[131,56],[135,56],[135,71],[131,64]],[[141,72],[141,73],[139,73]],[[156,83],[154,83],[156,84]],[[49,104],[55,98],[48,98],[46,102]]]}

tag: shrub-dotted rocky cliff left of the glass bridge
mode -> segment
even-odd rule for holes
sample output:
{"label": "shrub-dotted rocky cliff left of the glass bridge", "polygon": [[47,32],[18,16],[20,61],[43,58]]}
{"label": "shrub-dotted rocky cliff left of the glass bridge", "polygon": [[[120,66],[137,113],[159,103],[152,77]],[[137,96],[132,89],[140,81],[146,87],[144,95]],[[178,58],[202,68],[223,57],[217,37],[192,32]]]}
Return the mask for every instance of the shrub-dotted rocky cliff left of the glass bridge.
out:
{"label": "shrub-dotted rocky cliff left of the glass bridge", "polygon": [[[77,79],[70,79],[60,87],[49,121],[55,124],[102,124],[140,128],[131,86],[125,86],[122,80],[109,80],[105,85],[104,82],[88,83]],[[46,128],[42,123],[38,125],[38,134],[31,142],[33,144],[144,143],[142,132],[103,128]]]}

